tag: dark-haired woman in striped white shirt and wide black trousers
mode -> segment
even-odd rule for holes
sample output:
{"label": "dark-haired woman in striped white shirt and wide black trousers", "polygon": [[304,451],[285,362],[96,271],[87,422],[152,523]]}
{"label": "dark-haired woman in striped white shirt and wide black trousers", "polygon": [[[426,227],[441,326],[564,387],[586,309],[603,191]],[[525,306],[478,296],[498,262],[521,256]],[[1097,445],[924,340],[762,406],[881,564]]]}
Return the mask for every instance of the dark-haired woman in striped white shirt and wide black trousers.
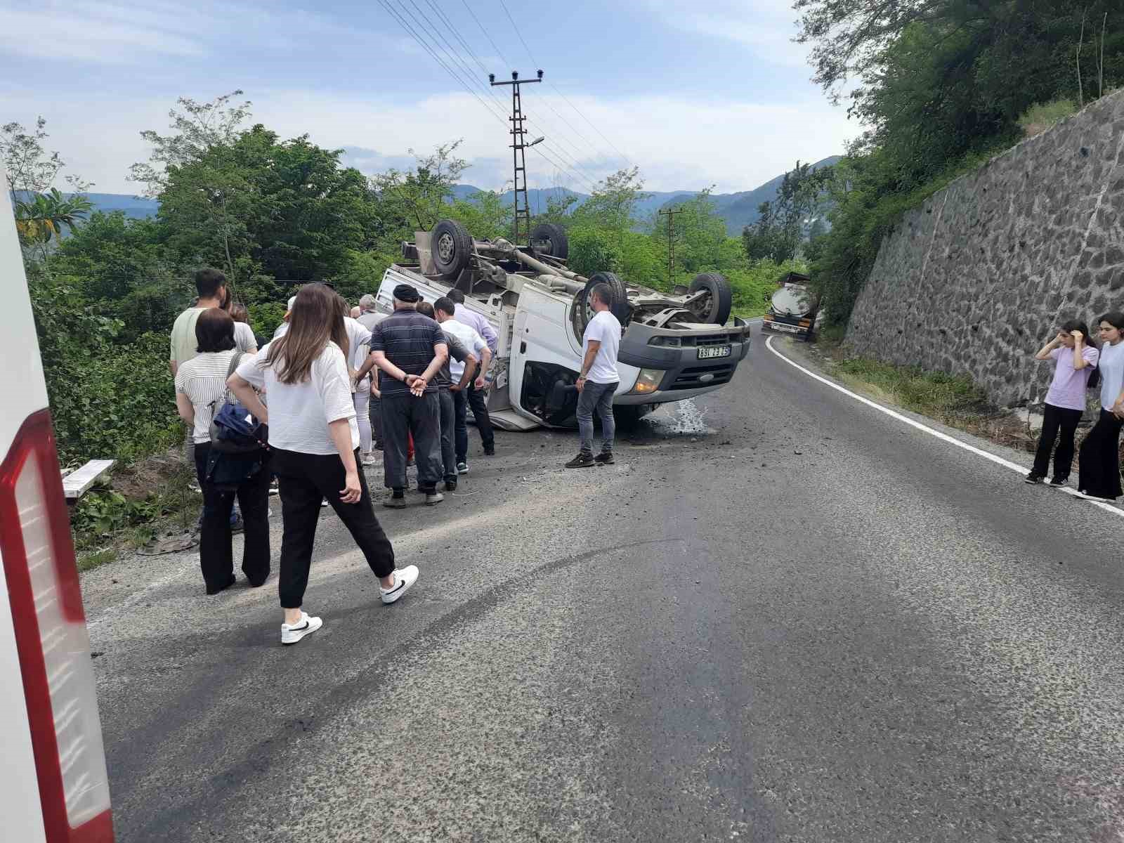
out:
{"label": "dark-haired woman in striped white shirt and wide black trousers", "polygon": [[259,469],[237,491],[207,480],[210,457],[210,423],[216,409],[227,399],[226,379],[230,364],[242,352],[236,350],[235,321],[221,308],[199,314],[196,321],[198,353],[175,371],[175,406],[191,426],[194,442],[196,475],[203,492],[203,516],[199,531],[199,566],[208,595],[217,595],[235,582],[234,550],[230,538],[230,511],[235,495],[242,506],[245,543],[242,572],[257,587],[270,575],[270,522],[268,468]]}

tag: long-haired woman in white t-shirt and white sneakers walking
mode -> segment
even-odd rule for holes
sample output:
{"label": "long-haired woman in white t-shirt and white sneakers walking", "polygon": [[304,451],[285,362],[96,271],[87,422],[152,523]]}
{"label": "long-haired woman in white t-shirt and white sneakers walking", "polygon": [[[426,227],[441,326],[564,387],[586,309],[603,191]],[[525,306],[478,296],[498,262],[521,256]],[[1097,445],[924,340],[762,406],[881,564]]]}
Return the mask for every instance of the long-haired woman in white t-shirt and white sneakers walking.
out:
{"label": "long-haired woman in white t-shirt and white sneakers walking", "polygon": [[[278,583],[284,610],[282,644],[296,644],[321,626],[320,618],[301,610],[301,604],[324,499],[379,578],[383,602],[398,600],[418,577],[416,565],[395,568],[395,550],[374,516],[366,479],[359,470],[345,314],[345,302],[329,287],[306,284],[297,293],[289,329],[253,360],[243,361],[228,381],[245,406],[270,426],[284,523]],[[252,387],[265,389],[269,408]]]}

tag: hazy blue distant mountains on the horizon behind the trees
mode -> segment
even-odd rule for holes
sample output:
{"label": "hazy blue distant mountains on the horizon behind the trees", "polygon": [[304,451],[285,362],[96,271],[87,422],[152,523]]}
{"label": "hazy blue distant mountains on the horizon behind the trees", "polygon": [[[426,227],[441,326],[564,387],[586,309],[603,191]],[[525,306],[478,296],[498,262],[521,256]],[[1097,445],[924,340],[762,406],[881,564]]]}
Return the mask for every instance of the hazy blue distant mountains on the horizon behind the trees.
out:
{"label": "hazy blue distant mountains on the horizon behind the trees", "polygon": [[[818,170],[823,166],[831,166],[839,160],[839,155],[832,155],[830,158],[817,161],[813,164],[813,169]],[[783,179],[785,175],[782,173],[776,179],[770,179],[764,184],[759,188],[754,188],[753,190],[745,190],[740,193],[711,193],[710,198],[718,207],[718,215],[726,220],[726,230],[731,235],[737,235],[741,234],[742,228],[755,223],[758,219],[758,206],[762,202],[770,202],[777,198],[777,190],[780,188]],[[472,187],[471,184],[453,185],[453,196],[457,199],[469,199],[473,193],[479,192],[480,188]],[[663,208],[674,206],[695,197],[697,192],[698,191],[694,190],[649,192],[636,208],[637,216],[642,220],[646,220]],[[156,210],[160,208],[160,202],[155,199],[143,199],[140,197],[128,196],[126,193],[88,193],[87,196],[90,201],[93,202],[94,210],[105,211],[107,214],[119,210],[124,211],[126,217],[132,217],[134,219],[154,217],[156,216]],[[579,207],[582,202],[589,199],[588,193],[579,193],[568,188],[534,188],[527,191],[527,201],[531,205],[531,212],[545,212],[546,205],[551,198],[561,198],[564,196],[574,196],[578,198],[578,201],[573,207]],[[510,190],[502,194],[502,200],[505,203],[511,202]]]}

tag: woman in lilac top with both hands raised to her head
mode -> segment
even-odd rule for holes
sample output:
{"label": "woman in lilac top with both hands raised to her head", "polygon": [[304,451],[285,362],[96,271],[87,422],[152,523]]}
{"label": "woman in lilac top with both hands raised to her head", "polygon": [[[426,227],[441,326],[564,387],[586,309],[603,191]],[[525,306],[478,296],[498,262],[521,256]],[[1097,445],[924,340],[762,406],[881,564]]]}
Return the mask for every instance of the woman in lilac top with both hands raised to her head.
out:
{"label": "woman in lilac top with both hands raised to her head", "polygon": [[1089,343],[1089,328],[1076,319],[1066,323],[1058,336],[1043,345],[1035,360],[1052,360],[1054,377],[1046,392],[1045,414],[1042,419],[1042,436],[1034,455],[1034,468],[1026,475],[1027,483],[1041,483],[1050,469],[1050,452],[1059,432],[1058,451],[1054,453],[1054,475],[1050,486],[1064,486],[1069,481],[1069,469],[1073,464],[1073,434],[1077,423],[1085,413],[1085,390],[1089,377],[1097,368],[1099,352]]}

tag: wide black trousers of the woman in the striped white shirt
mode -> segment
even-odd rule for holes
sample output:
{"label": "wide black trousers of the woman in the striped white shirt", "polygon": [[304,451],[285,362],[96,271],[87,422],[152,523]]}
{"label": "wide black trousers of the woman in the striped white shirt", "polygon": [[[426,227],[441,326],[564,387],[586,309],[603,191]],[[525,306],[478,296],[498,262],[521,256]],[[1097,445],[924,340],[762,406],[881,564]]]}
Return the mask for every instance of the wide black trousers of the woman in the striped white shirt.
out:
{"label": "wide black trousers of the woman in the striped white shirt", "polygon": [[242,572],[251,586],[261,586],[270,575],[270,466],[238,487],[237,492],[220,491],[207,481],[210,443],[196,445],[196,474],[203,492],[203,522],[199,533],[199,566],[208,591],[226,588],[234,574],[234,547],[230,537],[230,510],[235,496],[242,505],[244,544]]}

